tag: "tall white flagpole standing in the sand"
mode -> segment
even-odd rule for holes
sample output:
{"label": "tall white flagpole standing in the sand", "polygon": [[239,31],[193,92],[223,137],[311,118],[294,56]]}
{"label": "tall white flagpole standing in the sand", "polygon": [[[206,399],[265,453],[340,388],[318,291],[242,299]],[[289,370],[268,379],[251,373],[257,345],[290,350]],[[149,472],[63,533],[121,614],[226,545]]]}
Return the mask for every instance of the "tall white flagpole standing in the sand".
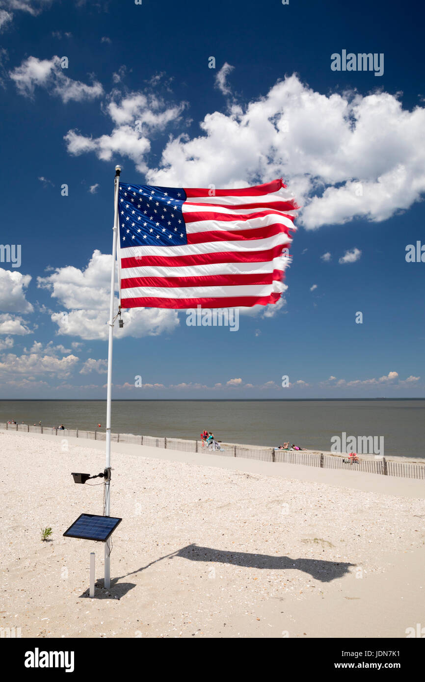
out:
{"label": "tall white flagpole standing in the sand", "polygon": [[[115,297],[115,260],[117,258],[118,238],[118,195],[119,174],[121,166],[115,166],[115,210],[113,226],[112,265],[111,265],[111,301],[109,306],[109,336],[108,336],[108,390],[106,393],[106,469],[111,467],[111,398],[112,398],[112,342],[114,329],[114,297]],[[104,516],[111,516],[111,481],[105,479]],[[104,587],[111,587],[111,537],[105,542],[105,578]]]}

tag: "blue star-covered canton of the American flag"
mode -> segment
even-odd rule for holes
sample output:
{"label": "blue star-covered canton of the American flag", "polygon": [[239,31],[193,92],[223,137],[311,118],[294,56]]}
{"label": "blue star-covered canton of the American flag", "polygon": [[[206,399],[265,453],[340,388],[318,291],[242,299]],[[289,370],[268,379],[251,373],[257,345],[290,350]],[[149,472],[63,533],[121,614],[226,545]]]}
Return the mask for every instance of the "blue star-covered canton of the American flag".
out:
{"label": "blue star-covered canton of the American flag", "polygon": [[181,188],[119,183],[119,243],[128,246],[187,244]]}

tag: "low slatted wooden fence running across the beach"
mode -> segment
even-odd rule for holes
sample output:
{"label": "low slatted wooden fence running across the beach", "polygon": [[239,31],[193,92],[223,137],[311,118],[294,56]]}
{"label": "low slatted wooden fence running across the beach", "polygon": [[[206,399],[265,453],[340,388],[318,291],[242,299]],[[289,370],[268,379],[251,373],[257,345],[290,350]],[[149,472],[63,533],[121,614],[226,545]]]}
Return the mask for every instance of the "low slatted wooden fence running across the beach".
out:
{"label": "low slatted wooden fence running across the beach", "polygon": [[[104,431],[87,431],[80,429],[59,429],[54,426],[29,426],[28,424],[1,424],[5,430],[23,431],[27,433],[42,433],[61,438],[84,438],[93,441],[104,441]],[[271,447],[246,447],[244,445],[222,445],[212,449],[203,445],[202,441],[190,441],[180,438],[159,438],[157,436],[137,436],[131,433],[111,433],[114,443],[132,443],[149,447],[162,447],[180,452],[200,452],[220,455],[220,457],[239,457],[263,462],[280,462],[282,464],[303,464],[304,466],[319,466],[321,469],[345,469],[347,471],[364,471],[385,476],[416,478],[425,480],[425,464],[415,462],[395,462],[385,457],[376,460],[360,459],[358,464],[350,464],[347,456],[325,455],[319,452],[301,452],[278,450]]]}

